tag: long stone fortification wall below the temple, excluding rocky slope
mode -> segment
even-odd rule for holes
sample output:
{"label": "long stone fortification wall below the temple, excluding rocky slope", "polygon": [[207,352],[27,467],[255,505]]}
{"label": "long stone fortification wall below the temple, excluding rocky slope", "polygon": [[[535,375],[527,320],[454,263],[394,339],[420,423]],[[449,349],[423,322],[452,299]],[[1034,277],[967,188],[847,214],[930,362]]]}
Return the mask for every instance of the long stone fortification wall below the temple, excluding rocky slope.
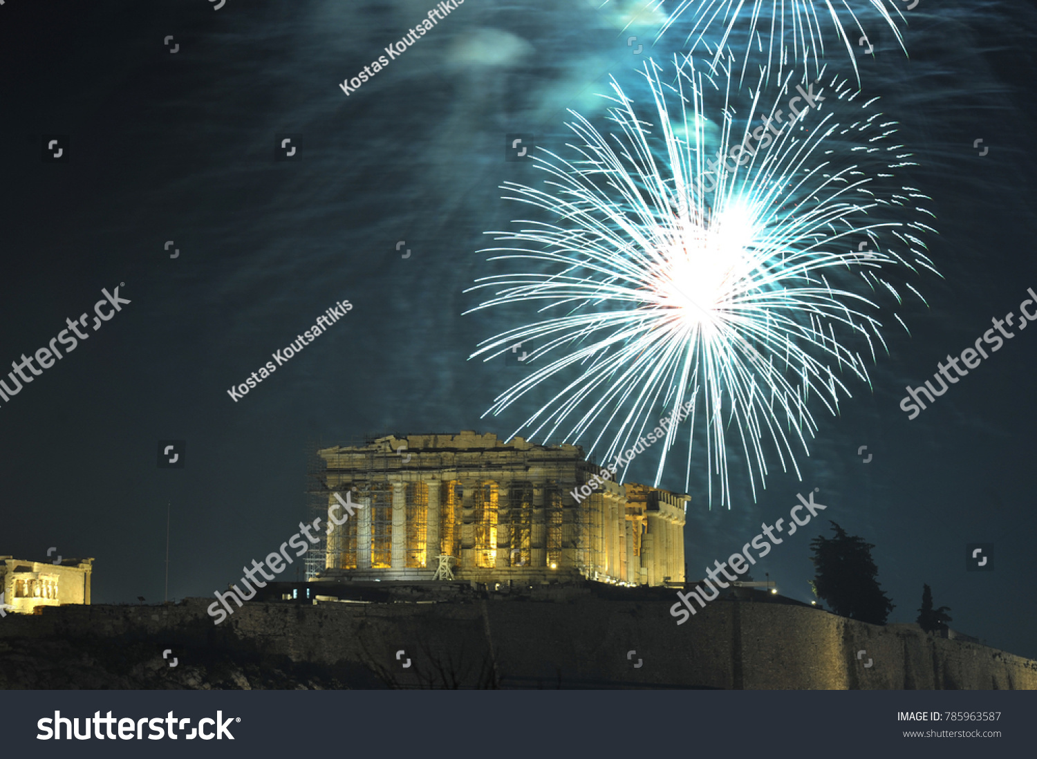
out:
{"label": "long stone fortification wall below the temple, excluding rocky slope", "polygon": [[448,603],[257,602],[218,627],[205,613],[208,599],[62,607],[8,616],[0,638],[155,639],[179,646],[185,660],[192,647],[258,651],[363,667],[383,683],[404,686],[453,679],[549,688],[1037,688],[1037,663],[915,625],[880,627],[807,607],[718,600],[678,626],[669,615],[671,595],[625,600],[621,591],[556,589],[527,600],[491,594]]}

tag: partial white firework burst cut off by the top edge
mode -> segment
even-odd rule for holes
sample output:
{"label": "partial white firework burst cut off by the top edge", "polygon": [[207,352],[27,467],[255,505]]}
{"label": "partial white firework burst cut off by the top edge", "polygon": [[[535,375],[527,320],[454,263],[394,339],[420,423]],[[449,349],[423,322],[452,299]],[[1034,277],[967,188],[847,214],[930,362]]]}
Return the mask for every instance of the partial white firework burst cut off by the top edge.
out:
{"label": "partial white firework burst cut off by the top edge", "polygon": [[[662,6],[662,0],[655,8]],[[857,8],[854,10],[854,7]],[[892,11],[892,12],[891,12]],[[765,54],[766,65],[775,67],[777,63],[778,79],[784,74],[786,60],[791,56],[794,66],[805,66],[814,62],[816,71],[820,69],[820,61],[824,56],[824,32],[828,22],[836,30],[837,39],[846,48],[853,74],[860,82],[857,68],[857,46],[850,41],[851,36],[866,37],[864,26],[859,17],[864,13],[877,13],[896,36],[897,44],[906,53],[903,35],[898,27],[898,19],[904,21],[904,15],[894,0],[681,0],[677,8],[670,15],[660,30],[656,41],[666,31],[684,19],[690,19],[692,28],[688,33],[688,41],[692,43],[692,51],[700,46],[714,45],[716,64],[720,60],[720,51],[726,50],[731,44],[732,34],[747,33],[744,46],[745,57],[741,62],[742,76],[749,65],[753,53],[754,39],[757,53]],[[845,19],[846,23],[843,23]],[[768,24],[769,22],[769,24]],[[857,26],[857,32],[846,32],[846,26]],[[762,32],[762,34],[761,34]],[[788,46],[791,36],[791,49]],[[717,37],[720,37],[717,41]],[[858,39],[860,39],[858,37]]]}

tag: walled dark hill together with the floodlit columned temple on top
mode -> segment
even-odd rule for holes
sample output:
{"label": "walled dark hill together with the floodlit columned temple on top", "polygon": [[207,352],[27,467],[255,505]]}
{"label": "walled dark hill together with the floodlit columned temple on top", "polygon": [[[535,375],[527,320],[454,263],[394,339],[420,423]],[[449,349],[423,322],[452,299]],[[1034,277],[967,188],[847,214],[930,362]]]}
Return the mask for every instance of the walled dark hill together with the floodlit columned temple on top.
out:
{"label": "walled dark hill together with the floodlit columned temple on top", "polygon": [[308,581],[220,624],[212,596],[8,615],[0,687],[1037,687],[1030,659],[748,587],[678,626],[690,497],[609,481],[578,500],[600,469],[576,446],[463,431],[318,455],[315,508],[363,508]]}

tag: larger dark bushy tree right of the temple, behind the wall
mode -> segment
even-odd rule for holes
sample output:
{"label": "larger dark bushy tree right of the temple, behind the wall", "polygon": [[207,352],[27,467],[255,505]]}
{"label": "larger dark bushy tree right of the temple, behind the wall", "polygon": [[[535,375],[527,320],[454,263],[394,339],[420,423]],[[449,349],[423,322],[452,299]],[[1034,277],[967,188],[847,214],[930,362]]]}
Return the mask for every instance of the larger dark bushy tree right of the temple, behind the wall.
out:
{"label": "larger dark bushy tree right of the temple, behind the wall", "polygon": [[814,593],[840,616],[886,624],[894,606],[878,584],[878,567],[871,558],[875,546],[847,535],[835,522],[830,524],[835,537],[818,535],[810,541]]}

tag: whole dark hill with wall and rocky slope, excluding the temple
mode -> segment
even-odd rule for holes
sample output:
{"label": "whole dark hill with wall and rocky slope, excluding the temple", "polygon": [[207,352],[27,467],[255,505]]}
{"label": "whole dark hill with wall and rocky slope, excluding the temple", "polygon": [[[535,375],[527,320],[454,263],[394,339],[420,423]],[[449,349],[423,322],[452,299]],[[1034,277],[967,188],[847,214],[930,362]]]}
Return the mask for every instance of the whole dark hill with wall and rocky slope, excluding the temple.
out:
{"label": "whole dark hill with wall and rocky slope, excluding the temple", "polygon": [[452,598],[399,586],[383,602],[252,601],[219,626],[207,598],[9,615],[0,687],[1037,687],[1035,662],[761,592],[678,628],[663,588],[443,585]]}

